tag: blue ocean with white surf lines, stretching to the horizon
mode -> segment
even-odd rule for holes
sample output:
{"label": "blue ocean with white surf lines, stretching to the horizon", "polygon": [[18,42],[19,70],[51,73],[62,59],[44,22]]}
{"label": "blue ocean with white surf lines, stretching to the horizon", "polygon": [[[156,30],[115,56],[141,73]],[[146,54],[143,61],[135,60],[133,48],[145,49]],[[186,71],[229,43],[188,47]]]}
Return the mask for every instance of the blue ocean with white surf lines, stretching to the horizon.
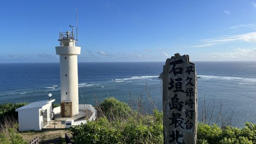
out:
{"label": "blue ocean with white surf lines, stretching to the horizon", "polygon": [[[161,80],[164,62],[79,63],[79,104],[95,105],[115,97],[127,103],[142,98],[144,109],[151,109],[148,94],[162,109]],[[256,123],[256,62],[195,62],[198,85],[198,120],[204,109],[210,123],[221,124],[220,117],[231,125],[243,127]],[[0,103],[60,101],[59,63],[1,63]],[[222,113],[220,114],[220,105]],[[211,113],[212,116],[211,116]],[[232,118],[229,118],[232,115]],[[223,120],[223,122],[224,122]]]}

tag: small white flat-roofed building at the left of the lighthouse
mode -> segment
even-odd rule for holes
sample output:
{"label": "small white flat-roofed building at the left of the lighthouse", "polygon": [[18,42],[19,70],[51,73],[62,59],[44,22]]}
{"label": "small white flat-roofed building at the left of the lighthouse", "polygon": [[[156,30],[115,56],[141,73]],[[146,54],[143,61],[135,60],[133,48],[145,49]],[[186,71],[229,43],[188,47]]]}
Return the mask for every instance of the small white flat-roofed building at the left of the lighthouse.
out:
{"label": "small white flat-roofed building at the left of the lighthouse", "polygon": [[43,100],[22,106],[18,111],[19,131],[40,131],[43,127],[43,121],[50,121],[53,113],[53,100]]}

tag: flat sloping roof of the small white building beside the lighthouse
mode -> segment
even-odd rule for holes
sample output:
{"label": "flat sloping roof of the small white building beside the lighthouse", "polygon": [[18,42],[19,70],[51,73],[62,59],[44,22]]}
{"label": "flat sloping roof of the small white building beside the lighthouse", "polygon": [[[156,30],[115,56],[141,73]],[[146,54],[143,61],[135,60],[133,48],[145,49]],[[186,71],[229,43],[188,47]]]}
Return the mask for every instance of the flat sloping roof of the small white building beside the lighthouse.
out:
{"label": "flat sloping roof of the small white building beside the lighthouse", "polygon": [[55,101],[55,99],[36,101],[36,102],[30,103],[28,105],[24,105],[24,106],[16,109],[15,111],[26,111],[26,110],[29,110],[29,109],[41,109],[44,105],[47,105],[47,104],[52,103],[54,101]]}

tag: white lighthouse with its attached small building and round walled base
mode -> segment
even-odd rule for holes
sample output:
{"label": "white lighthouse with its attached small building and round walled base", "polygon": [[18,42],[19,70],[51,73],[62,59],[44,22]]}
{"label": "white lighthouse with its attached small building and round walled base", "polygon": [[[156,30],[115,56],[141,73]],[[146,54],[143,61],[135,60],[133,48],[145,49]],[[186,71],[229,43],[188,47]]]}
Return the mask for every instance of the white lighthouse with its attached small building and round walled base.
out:
{"label": "white lighthouse with its attached small building and round walled base", "polygon": [[81,47],[76,46],[77,33],[74,39],[74,26],[70,27],[72,32],[59,32],[60,46],[55,47],[56,54],[59,54],[60,106],[53,107],[55,99],[51,99],[52,94],[49,93],[49,99],[16,109],[19,131],[70,128],[97,118],[97,111],[92,105],[79,105],[77,55],[80,54]]}

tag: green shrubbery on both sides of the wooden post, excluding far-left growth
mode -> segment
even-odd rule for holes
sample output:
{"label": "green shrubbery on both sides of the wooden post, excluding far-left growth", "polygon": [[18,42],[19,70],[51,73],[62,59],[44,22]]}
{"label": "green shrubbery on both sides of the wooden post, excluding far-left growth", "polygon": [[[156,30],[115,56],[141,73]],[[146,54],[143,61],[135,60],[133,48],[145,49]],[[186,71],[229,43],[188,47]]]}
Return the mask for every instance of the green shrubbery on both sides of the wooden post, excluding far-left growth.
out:
{"label": "green shrubbery on both sides of the wooden post, excluding far-left growth", "polygon": [[[100,104],[102,112],[97,121],[72,126],[77,144],[163,144],[163,112],[153,110],[151,115],[131,111],[115,98]],[[120,116],[125,117],[121,118]],[[256,124],[244,128],[219,127],[199,123],[197,144],[256,144]]]}

